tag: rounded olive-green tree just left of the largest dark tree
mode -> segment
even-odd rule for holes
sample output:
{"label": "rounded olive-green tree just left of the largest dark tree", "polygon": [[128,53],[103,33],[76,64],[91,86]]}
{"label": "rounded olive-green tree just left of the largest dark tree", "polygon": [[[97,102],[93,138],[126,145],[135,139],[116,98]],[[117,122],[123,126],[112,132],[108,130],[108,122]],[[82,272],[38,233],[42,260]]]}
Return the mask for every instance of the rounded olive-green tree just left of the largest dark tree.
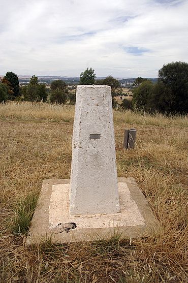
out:
{"label": "rounded olive-green tree just left of the largest dark tree", "polygon": [[151,81],[143,81],[133,93],[133,105],[138,110],[149,111],[150,99],[153,91],[153,84]]}

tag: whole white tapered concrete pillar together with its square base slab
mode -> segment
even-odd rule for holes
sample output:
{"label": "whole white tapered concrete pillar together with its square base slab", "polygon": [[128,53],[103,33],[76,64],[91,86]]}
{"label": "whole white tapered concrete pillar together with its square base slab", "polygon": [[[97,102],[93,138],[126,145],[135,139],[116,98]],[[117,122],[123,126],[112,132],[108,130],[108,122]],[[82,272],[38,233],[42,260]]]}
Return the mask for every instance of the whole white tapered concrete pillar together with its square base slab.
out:
{"label": "whole white tapered concrete pillar together with its square base slab", "polygon": [[[156,221],[133,178],[118,178],[111,88],[79,85],[70,179],[44,180],[26,244],[153,233]],[[124,233],[126,232],[126,233]]]}

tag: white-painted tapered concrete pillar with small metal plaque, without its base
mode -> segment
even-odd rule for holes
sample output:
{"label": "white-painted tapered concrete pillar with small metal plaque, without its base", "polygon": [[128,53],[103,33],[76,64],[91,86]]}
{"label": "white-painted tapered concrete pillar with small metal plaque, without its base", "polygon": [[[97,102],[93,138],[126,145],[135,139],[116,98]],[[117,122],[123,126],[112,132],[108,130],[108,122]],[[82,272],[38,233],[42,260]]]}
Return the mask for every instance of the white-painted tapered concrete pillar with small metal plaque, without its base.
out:
{"label": "white-painted tapered concrete pillar with small metal plaque, without its base", "polygon": [[79,85],[72,140],[70,214],[118,211],[111,88]]}

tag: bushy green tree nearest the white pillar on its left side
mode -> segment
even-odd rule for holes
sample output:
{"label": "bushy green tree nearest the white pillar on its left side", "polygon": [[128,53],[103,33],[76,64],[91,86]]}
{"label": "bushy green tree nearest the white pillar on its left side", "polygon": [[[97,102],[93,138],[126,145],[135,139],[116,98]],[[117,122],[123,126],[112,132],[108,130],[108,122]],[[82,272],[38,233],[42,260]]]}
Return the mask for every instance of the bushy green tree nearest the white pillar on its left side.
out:
{"label": "bushy green tree nearest the white pillar on its left side", "polygon": [[68,88],[65,81],[55,80],[51,83],[50,102],[65,104],[68,99]]}

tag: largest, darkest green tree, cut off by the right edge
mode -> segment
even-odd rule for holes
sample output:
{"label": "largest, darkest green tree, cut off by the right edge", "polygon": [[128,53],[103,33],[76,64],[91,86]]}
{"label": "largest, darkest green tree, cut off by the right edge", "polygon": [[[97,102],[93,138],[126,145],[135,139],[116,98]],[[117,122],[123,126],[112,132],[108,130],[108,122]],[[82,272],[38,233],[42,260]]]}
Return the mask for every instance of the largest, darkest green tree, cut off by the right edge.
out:
{"label": "largest, darkest green tree, cut off by the right edge", "polygon": [[[188,64],[171,62],[159,70],[159,83],[163,83],[168,91],[163,96],[168,101],[166,112],[186,113],[188,111]],[[161,84],[162,86],[162,84]],[[156,96],[160,96],[157,92]],[[170,108],[169,108],[170,106]]]}

